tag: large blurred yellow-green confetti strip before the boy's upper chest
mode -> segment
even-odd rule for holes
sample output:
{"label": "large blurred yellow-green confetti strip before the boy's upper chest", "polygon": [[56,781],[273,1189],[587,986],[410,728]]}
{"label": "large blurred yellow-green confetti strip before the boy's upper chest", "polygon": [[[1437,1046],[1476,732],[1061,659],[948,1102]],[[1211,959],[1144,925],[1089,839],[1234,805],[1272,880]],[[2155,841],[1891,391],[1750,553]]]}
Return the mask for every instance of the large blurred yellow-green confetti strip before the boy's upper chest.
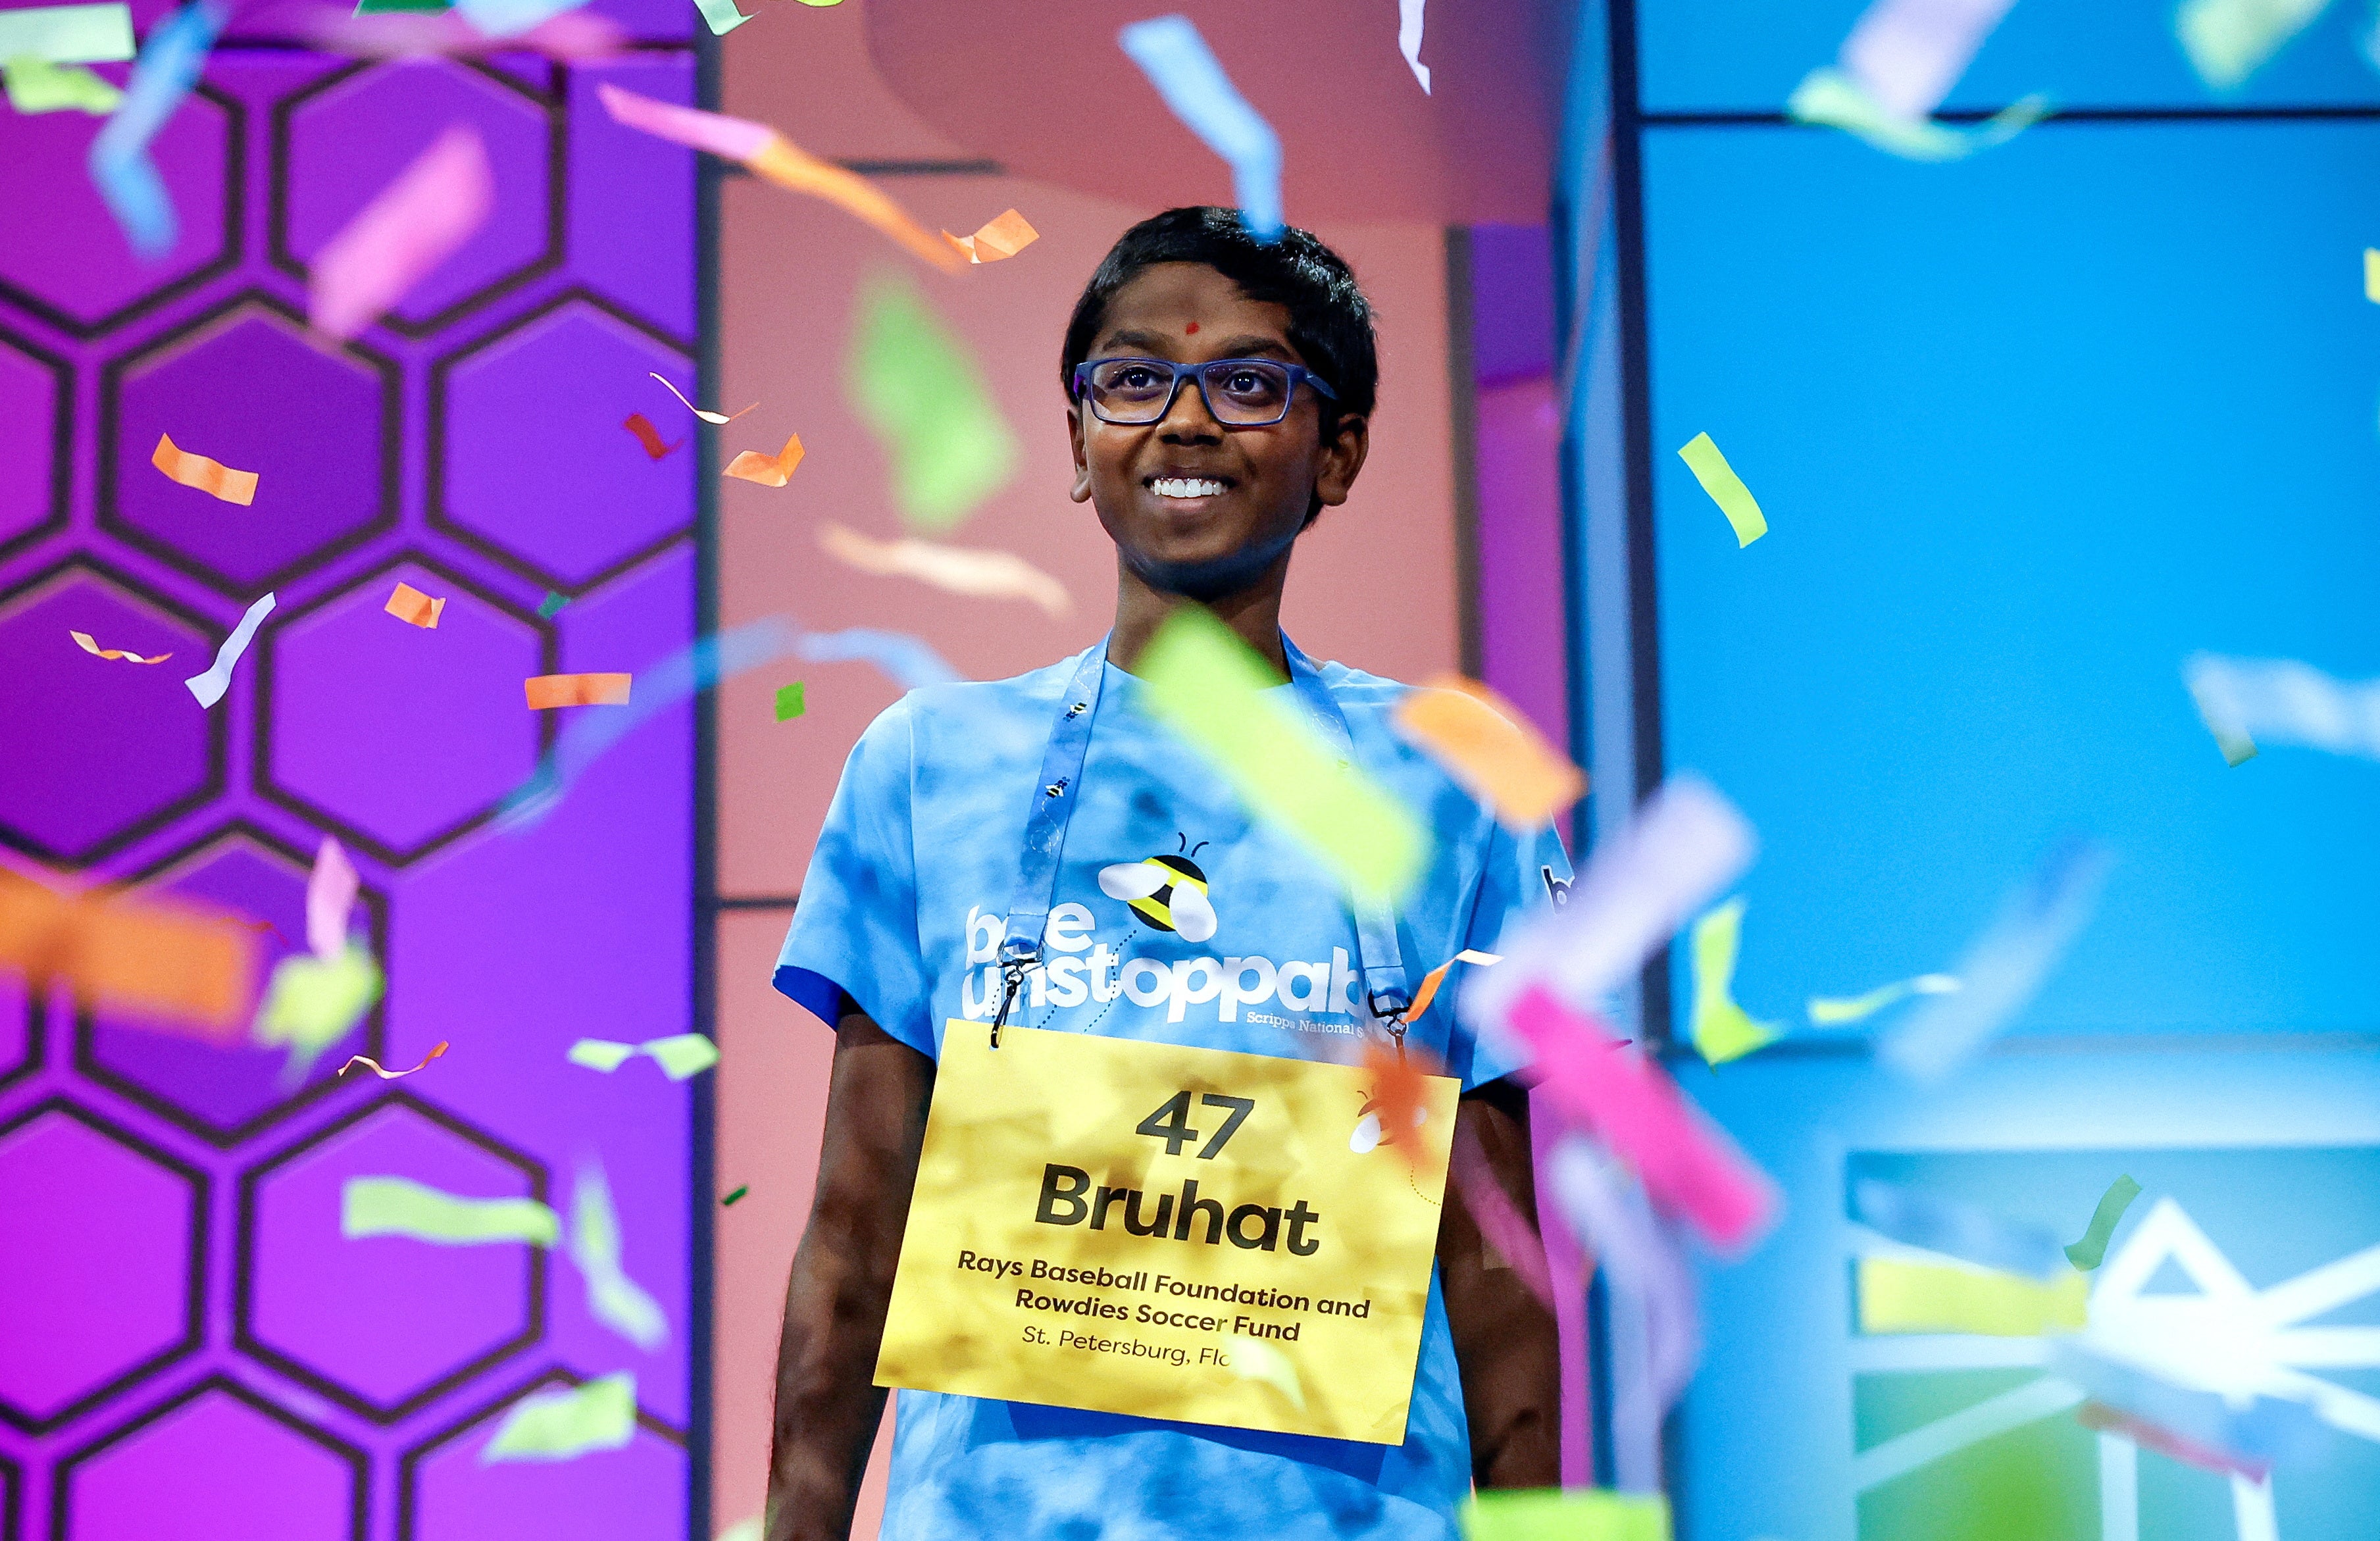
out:
{"label": "large blurred yellow-green confetti strip before the boy's upper chest", "polygon": [[1352,891],[1395,896],[1421,869],[1428,836],[1414,815],[1276,700],[1271,665],[1204,607],[1178,605],[1133,672],[1150,710]]}

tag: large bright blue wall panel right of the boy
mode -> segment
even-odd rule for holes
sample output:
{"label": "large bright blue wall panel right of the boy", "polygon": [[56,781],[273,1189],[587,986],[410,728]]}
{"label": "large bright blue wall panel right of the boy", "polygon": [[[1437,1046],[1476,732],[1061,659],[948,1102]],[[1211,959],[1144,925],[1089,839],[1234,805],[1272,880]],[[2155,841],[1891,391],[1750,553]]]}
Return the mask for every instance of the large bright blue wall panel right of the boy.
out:
{"label": "large bright blue wall panel right of the boy", "polygon": [[1664,750],[1761,831],[1754,1017],[1952,967],[2080,829],[2118,865],[2030,1029],[2380,1027],[2380,765],[2225,769],[2180,684],[2197,648],[2380,674],[2375,171],[2368,121],[1947,167],[1647,133]]}

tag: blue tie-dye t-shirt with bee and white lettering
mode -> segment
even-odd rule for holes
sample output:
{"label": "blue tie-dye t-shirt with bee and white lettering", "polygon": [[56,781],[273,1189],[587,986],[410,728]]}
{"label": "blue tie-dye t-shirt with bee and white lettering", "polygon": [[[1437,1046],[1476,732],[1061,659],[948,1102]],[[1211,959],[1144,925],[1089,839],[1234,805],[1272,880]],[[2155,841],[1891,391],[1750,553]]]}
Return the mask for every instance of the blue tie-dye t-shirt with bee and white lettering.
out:
{"label": "blue tie-dye t-shirt with bee and white lettering", "polygon": [[[781,991],[826,1022],[847,993],[935,1058],[947,1019],[990,1022],[1026,807],[1076,662],[912,691],[862,734],[802,881]],[[1397,734],[1404,686],[1340,665],[1323,665],[1321,679],[1347,715],[1361,769],[1435,841],[1426,876],[1397,903],[1414,988],[1461,948],[1495,950],[1504,924],[1545,903],[1571,867],[1552,829],[1516,838]],[[1116,898],[1138,891],[1121,874],[1102,886],[1104,869],[1152,857],[1200,874],[1211,915]],[[1335,884],[1290,836],[1250,822],[1114,665],[1042,960],[1012,1012],[1028,1027],[1295,1058],[1328,1058],[1373,1031],[1359,1005],[1354,917]],[[1511,1065],[1466,1034],[1449,1041],[1466,972],[1449,972],[1409,1041],[1468,1091]],[[1433,1272],[1402,1446],[902,1391],[883,1536],[1440,1541],[1468,1491],[1464,1396]]]}

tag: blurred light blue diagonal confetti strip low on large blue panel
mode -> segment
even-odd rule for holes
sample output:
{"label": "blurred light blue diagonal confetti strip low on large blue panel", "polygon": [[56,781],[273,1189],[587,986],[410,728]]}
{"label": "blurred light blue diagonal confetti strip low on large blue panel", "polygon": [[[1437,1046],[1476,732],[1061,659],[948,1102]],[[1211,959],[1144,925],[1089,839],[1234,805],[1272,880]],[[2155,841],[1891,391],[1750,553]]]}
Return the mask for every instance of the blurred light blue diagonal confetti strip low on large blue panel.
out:
{"label": "blurred light blue diagonal confetti strip low on large blue panel", "polygon": [[1940,1081],[2021,1012],[2042,979],[2090,922],[2111,855],[2092,841],[2066,841],[1999,919],[1959,960],[1956,996],[1935,996],[1902,1017],[1878,1058],[1914,1081]]}

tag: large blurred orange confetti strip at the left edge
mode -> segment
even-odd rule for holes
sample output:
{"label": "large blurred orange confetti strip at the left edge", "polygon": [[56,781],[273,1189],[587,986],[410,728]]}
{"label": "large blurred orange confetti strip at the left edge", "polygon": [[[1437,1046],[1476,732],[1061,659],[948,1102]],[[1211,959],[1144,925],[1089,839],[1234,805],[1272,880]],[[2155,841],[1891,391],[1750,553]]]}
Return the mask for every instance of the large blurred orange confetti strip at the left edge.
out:
{"label": "large blurred orange confetti strip at the left edge", "polygon": [[171,898],[62,893],[0,869],[0,967],[64,979],[90,1010],[236,1041],[257,974],[257,934],[236,915]]}

